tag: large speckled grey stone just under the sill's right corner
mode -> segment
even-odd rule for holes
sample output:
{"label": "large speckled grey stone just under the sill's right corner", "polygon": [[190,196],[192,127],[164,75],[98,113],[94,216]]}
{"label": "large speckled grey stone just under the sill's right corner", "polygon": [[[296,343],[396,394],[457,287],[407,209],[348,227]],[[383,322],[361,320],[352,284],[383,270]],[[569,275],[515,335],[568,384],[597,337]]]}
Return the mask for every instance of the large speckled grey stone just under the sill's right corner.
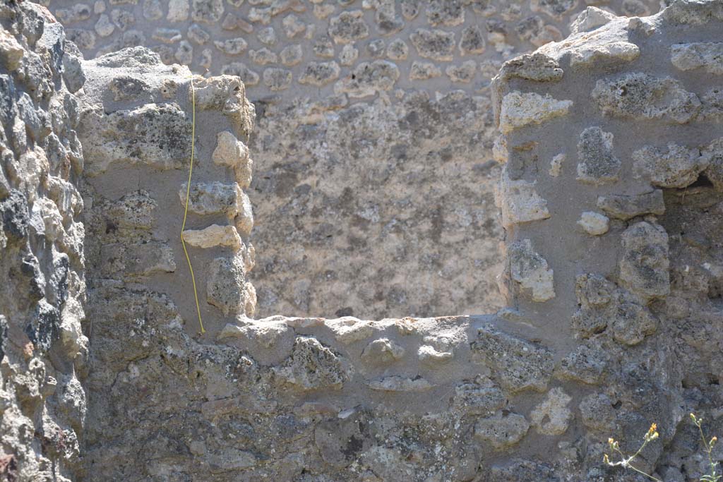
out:
{"label": "large speckled grey stone just under the sill's right corner", "polygon": [[491,326],[478,330],[471,348],[492,369],[502,388],[512,393],[529,389],[542,392],[555,368],[547,348]]}

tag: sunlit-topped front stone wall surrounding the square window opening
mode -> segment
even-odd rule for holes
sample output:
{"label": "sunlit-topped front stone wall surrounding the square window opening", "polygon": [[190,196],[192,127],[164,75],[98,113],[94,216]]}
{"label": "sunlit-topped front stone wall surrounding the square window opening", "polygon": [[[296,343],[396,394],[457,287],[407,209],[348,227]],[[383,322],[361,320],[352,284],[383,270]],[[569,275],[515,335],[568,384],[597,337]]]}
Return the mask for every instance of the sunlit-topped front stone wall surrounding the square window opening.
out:
{"label": "sunlit-topped front stone wall surrounding the square window opening", "polygon": [[698,480],[687,413],[723,433],[722,25],[721,0],[589,9],[502,67],[508,307],[487,316],[245,316],[222,186],[247,179],[252,113],[234,77],[198,80],[196,182],[220,184],[194,186],[187,238],[205,337],[177,241],[188,72],[144,49],[85,62],[85,480],[638,482],[602,454],[654,421],[640,468]]}

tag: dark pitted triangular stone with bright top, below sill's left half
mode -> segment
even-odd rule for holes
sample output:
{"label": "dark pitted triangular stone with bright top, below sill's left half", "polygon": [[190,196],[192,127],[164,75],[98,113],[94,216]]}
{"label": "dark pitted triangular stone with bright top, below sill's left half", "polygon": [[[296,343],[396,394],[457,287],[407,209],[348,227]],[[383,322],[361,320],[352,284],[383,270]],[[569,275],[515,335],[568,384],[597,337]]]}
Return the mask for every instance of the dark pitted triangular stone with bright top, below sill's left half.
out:
{"label": "dark pitted triangular stone with bright top, below sill's left half", "polygon": [[340,390],[351,376],[341,356],[314,337],[296,337],[291,356],[273,368],[275,376],[299,390]]}

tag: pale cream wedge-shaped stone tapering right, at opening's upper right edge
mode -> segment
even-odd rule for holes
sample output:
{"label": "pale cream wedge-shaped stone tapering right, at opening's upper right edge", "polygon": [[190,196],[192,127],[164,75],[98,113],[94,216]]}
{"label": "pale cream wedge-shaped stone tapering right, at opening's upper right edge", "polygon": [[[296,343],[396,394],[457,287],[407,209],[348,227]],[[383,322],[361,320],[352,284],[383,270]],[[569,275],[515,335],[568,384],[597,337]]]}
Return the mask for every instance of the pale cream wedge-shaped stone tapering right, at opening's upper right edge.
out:
{"label": "pale cream wedge-shaped stone tapering right, at opening's upper right edge", "polygon": [[565,116],[573,106],[572,100],[556,100],[551,95],[515,90],[502,98],[500,132],[509,134],[531,124],[542,124],[549,119]]}

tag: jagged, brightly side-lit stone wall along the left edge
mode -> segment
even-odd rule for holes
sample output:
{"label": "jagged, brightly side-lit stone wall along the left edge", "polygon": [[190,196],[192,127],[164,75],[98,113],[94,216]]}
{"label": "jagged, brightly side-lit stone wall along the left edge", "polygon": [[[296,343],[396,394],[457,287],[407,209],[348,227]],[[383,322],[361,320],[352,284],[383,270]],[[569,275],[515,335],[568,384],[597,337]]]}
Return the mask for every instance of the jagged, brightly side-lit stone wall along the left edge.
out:
{"label": "jagged, brightly side-lit stone wall along the left edge", "polygon": [[44,7],[0,4],[0,481],[69,481],[87,409],[77,56]]}

